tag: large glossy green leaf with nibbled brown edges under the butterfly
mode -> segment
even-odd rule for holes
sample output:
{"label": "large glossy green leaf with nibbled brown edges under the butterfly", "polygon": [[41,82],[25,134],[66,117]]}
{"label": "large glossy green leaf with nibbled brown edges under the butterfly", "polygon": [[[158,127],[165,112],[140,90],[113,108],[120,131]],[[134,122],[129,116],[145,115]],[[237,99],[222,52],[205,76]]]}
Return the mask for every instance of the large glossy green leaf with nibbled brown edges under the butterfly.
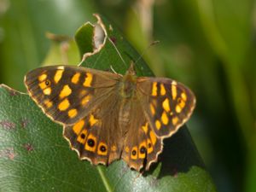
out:
{"label": "large glossy green leaf with nibbled brown edges under the butterfly", "polygon": [[[99,19],[109,38],[101,49],[92,47],[93,52],[84,55],[80,40],[86,39],[83,34],[95,34],[95,27],[80,27],[76,40],[86,57],[81,65],[101,70],[112,66],[125,73],[139,55],[108,20]],[[142,59],[136,69],[139,75],[152,75]],[[79,160],[62,137],[61,125],[47,118],[26,94],[2,85],[0,103],[0,191],[216,191],[185,125],[165,140],[159,162],[139,174],[123,160],[108,167]]]}

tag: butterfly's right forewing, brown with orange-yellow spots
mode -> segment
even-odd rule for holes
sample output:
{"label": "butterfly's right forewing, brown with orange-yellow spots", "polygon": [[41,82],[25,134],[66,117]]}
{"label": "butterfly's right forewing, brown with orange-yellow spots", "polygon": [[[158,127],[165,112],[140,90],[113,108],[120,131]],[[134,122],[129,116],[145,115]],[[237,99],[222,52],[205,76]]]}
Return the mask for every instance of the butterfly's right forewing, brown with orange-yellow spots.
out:
{"label": "butterfly's right forewing, brown with orange-yellow spots", "polygon": [[165,78],[138,78],[137,95],[158,137],[171,137],[190,117],[195,96],[183,84]]}

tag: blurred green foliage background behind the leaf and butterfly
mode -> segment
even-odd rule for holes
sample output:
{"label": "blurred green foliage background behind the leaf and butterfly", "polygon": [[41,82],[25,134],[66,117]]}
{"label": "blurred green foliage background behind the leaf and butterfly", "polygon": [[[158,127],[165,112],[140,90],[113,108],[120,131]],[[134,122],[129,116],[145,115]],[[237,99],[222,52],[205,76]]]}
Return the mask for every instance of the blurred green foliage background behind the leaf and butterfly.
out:
{"label": "blurred green foliage background behind the leaf and butterfly", "polygon": [[93,13],[119,26],[139,53],[160,40],[143,57],[156,76],[194,90],[189,131],[218,191],[256,191],[255,2],[0,0],[0,83],[25,91],[24,75],[53,47],[45,33],[73,37],[96,21]]}

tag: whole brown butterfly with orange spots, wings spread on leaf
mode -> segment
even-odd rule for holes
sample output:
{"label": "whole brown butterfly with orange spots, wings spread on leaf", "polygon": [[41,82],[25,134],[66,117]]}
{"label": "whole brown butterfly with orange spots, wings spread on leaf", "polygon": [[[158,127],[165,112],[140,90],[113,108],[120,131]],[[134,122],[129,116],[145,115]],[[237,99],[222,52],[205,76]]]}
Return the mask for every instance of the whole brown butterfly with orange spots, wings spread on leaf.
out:
{"label": "whole brown butterfly with orange spots, wings spread on leaf", "polygon": [[172,79],[137,77],[85,67],[50,66],[25,77],[32,99],[55,122],[81,160],[123,159],[139,171],[157,161],[163,139],[190,117],[195,96]]}

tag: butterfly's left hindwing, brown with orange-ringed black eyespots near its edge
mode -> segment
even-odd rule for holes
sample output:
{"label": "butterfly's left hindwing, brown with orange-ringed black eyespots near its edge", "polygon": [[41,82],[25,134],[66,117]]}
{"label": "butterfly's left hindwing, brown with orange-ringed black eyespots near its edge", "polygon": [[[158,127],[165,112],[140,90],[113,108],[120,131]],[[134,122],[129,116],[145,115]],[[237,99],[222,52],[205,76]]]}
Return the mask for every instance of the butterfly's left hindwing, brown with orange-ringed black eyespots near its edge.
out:
{"label": "butterfly's left hindwing, brown with orange-ringed black eyespots near its edge", "polygon": [[122,134],[118,125],[120,99],[116,91],[74,125],[64,126],[64,137],[80,159],[108,165],[120,158]]}

